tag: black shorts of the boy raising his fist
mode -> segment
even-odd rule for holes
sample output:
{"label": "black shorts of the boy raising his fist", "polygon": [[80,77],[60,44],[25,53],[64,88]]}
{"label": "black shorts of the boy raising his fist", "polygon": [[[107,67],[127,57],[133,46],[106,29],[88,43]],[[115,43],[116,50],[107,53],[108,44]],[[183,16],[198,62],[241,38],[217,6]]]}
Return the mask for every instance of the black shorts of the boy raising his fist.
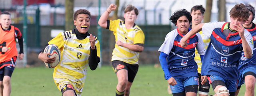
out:
{"label": "black shorts of the boy raising his fist", "polygon": [[115,73],[121,69],[127,70],[128,71],[128,81],[131,83],[133,82],[133,80],[138,72],[138,69],[139,69],[138,64],[128,64],[126,62],[122,62],[119,60],[112,61],[112,66],[113,66],[112,68]]}

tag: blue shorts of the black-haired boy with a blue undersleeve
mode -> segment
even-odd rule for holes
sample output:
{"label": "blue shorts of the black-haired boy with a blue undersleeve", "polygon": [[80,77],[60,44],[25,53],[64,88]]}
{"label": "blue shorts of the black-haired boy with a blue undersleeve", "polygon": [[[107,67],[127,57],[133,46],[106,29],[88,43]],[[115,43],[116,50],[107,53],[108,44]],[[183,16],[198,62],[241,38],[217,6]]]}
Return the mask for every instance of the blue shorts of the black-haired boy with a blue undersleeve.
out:
{"label": "blue shorts of the black-haired boy with a blue undersleeve", "polygon": [[198,77],[197,76],[192,76],[192,77],[187,77],[187,78],[179,78],[175,79],[177,84],[174,86],[171,86],[172,93],[179,93],[185,91],[186,86],[190,85],[198,85]]}

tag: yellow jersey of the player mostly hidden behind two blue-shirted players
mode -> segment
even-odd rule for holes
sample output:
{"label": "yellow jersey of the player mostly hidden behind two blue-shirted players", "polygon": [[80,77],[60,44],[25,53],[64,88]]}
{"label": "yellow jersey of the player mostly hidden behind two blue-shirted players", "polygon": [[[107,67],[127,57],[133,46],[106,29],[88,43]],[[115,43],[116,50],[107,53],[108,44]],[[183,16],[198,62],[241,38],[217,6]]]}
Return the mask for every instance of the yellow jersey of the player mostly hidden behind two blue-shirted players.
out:
{"label": "yellow jersey of the player mostly hidden behind two blue-shirted players", "polygon": [[[202,39],[203,39],[204,48],[207,49],[208,45],[210,44],[210,40],[211,40],[211,39],[210,39],[210,37],[208,37],[208,36],[202,34],[202,31],[200,31],[199,33],[200,33],[200,35],[201,35],[201,37],[202,37]],[[198,54],[197,50],[195,51],[195,58],[194,58],[194,60],[196,61],[197,66],[198,66],[198,68],[197,68],[198,73],[201,74],[202,62],[201,62],[200,54]]]}

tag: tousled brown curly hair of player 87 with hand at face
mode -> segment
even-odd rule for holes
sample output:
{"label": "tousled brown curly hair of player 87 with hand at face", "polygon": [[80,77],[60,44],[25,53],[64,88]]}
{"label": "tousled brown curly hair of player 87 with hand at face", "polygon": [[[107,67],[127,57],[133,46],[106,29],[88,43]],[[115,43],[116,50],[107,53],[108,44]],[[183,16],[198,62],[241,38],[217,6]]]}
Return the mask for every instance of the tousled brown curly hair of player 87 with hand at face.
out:
{"label": "tousled brown curly hair of player 87 with hand at face", "polygon": [[247,20],[250,16],[249,9],[242,3],[236,4],[229,12],[232,18],[243,18],[243,20]]}

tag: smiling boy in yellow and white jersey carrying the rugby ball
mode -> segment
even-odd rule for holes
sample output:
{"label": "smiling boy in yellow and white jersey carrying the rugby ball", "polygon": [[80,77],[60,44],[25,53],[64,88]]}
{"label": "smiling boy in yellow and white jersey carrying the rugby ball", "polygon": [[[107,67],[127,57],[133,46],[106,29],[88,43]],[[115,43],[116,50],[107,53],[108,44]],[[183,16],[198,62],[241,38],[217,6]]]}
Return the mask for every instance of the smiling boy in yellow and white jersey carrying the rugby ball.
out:
{"label": "smiling boy in yellow and white jersey carrying the rugby ball", "polygon": [[[77,10],[73,15],[76,28],[61,32],[48,42],[60,48],[60,63],[54,68],[53,79],[63,96],[81,96],[88,65],[95,70],[100,62],[100,43],[87,32],[90,19],[88,10]],[[51,54],[43,54],[43,51],[40,51],[38,58],[46,63],[54,62],[55,57],[48,58],[47,55]]]}

